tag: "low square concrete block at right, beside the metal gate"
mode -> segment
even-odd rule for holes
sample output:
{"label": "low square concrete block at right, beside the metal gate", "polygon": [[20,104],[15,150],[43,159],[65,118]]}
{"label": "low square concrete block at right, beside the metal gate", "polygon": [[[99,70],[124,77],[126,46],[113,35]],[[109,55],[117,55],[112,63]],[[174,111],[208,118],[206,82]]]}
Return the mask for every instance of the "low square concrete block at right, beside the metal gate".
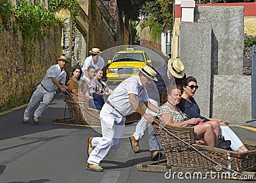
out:
{"label": "low square concrete block at right, beside the metal gate", "polygon": [[214,76],[212,118],[244,123],[252,118],[252,77]]}

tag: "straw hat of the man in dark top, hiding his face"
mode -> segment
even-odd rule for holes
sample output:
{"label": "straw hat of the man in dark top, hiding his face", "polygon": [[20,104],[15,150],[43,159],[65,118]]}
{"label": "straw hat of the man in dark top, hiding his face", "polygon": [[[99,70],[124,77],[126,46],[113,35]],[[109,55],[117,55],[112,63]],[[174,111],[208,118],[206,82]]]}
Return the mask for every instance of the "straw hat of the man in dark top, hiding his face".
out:
{"label": "straw hat of the man in dark top, hiding his face", "polygon": [[182,61],[177,58],[171,58],[168,60],[168,69],[170,70],[172,76],[176,78],[184,77],[185,70]]}

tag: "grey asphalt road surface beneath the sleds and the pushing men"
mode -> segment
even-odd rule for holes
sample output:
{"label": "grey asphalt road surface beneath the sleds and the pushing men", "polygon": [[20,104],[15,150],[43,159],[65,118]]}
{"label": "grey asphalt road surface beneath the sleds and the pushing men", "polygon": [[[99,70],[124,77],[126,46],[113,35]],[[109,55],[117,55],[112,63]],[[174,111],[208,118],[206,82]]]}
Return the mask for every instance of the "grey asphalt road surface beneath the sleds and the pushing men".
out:
{"label": "grey asphalt road surface beneath the sleds and the pushing men", "polygon": [[[166,179],[164,173],[138,171],[136,164],[149,164],[147,135],[141,139],[138,154],[132,151],[127,136],[135,125],[127,126],[122,145],[109,154],[100,164],[103,172],[86,170],[87,139],[100,136],[91,127],[54,125],[52,119],[63,118],[64,95],[57,94],[51,106],[39,119],[38,125],[22,123],[25,107],[17,107],[0,114],[0,182],[234,182],[234,180]],[[68,112],[67,112],[68,113]],[[68,114],[66,114],[68,115]],[[256,141],[255,128],[232,127],[243,139]],[[164,157],[163,157],[164,158]],[[236,182],[243,182],[237,180]],[[247,181],[252,182],[252,181]]]}

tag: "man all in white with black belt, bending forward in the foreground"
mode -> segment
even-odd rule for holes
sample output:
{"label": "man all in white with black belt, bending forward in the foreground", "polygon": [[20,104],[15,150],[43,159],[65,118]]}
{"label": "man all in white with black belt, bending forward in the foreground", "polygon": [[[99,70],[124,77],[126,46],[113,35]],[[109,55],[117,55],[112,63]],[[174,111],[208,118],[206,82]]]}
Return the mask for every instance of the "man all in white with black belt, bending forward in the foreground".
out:
{"label": "man all in white with black belt, bending forward in the foreground", "polygon": [[145,89],[152,80],[157,81],[156,72],[147,65],[139,69],[138,76],[131,76],[116,86],[102,107],[100,111],[102,137],[88,138],[88,170],[103,171],[99,166],[100,161],[111,148],[120,146],[124,134],[125,116],[136,110],[148,123],[153,122],[154,116],[145,113],[139,102],[143,102],[148,109],[157,113],[157,107],[148,101]]}

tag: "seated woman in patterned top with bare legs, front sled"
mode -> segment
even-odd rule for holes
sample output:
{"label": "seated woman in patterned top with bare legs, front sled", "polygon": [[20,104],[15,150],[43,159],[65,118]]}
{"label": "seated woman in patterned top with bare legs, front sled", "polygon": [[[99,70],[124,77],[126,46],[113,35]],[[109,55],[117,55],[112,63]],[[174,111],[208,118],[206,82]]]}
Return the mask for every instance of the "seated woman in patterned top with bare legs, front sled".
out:
{"label": "seated woman in patterned top with bare legs, front sled", "polygon": [[211,123],[200,123],[199,118],[191,118],[186,120],[187,116],[184,113],[181,113],[177,107],[179,104],[182,95],[182,86],[179,85],[169,85],[161,96],[161,102],[163,106],[160,106],[158,109],[157,116],[161,119],[161,122],[166,123],[167,125],[175,125],[179,127],[186,127],[188,125],[194,126],[195,139],[204,138],[207,145],[214,147],[216,139],[214,136],[214,130],[218,133],[220,127],[217,125],[216,128],[212,126]]}

